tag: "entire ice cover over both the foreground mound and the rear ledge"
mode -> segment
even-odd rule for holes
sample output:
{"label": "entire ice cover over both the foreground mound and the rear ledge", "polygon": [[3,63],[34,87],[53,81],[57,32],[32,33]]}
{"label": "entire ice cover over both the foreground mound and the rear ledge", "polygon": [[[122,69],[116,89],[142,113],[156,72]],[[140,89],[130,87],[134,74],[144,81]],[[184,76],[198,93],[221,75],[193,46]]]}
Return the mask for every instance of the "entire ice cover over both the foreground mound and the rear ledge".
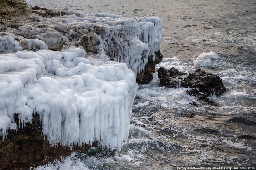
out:
{"label": "entire ice cover over both the foreground mound and the rear ledge", "polygon": [[162,20],[68,9],[60,17],[33,15],[34,22],[1,32],[2,139],[37,113],[51,145],[72,148],[96,140],[121,149],[136,73],[160,48]]}

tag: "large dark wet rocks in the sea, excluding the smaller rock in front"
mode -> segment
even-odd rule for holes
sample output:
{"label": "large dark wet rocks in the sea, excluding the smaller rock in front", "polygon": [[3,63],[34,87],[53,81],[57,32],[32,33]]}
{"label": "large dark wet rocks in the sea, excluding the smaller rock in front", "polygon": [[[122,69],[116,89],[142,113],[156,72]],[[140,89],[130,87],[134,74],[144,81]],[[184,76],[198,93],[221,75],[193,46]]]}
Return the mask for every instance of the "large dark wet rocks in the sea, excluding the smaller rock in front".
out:
{"label": "large dark wet rocks in the sea, excluding the smaller rock in front", "polygon": [[[170,76],[178,76],[177,74],[183,78]],[[184,75],[184,73],[178,73],[174,68],[170,71],[170,69],[167,70],[164,67],[160,67],[158,70],[160,84],[166,88],[199,88],[199,92],[203,92],[207,96],[219,96],[226,91],[226,88],[218,75],[201,71],[201,69],[197,69],[195,73],[189,73],[188,77],[185,77]]]}

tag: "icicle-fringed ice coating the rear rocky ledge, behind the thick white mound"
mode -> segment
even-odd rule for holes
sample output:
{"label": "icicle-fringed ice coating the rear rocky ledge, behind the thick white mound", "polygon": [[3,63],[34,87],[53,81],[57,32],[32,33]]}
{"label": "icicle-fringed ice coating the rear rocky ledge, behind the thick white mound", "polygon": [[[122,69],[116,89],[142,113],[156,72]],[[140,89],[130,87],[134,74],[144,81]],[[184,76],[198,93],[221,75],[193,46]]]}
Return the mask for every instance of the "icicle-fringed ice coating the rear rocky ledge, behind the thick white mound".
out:
{"label": "icicle-fringed ice coating the rear rocky ledge, behind the thick white mound", "polygon": [[[106,54],[111,61],[127,63],[135,73],[141,73],[148,60],[154,61],[154,52],[158,52],[162,43],[163,23],[158,16],[125,18],[108,13],[86,14],[76,10],[63,9],[60,17],[45,18],[37,14],[34,17],[36,18],[34,25],[30,23],[22,25],[18,29],[8,28],[10,30],[7,31],[15,36],[42,40],[49,50],[58,51],[69,46],[81,46],[79,41],[83,35],[87,35],[88,41],[93,42],[91,41],[92,34],[97,34],[99,36],[97,43],[90,44],[91,52],[94,53],[90,53],[90,55]],[[132,38],[129,38],[130,36]],[[95,39],[95,37],[96,35],[93,38]],[[135,41],[135,37],[141,42]],[[131,47],[130,44],[133,46]],[[134,46],[140,47],[134,48]],[[89,50],[88,53],[90,52],[90,49],[83,47],[85,50]],[[141,50],[141,48],[143,49]],[[134,51],[135,49],[139,51]],[[147,54],[145,51],[148,49],[149,53]],[[131,56],[129,53],[134,53],[136,56]]]}

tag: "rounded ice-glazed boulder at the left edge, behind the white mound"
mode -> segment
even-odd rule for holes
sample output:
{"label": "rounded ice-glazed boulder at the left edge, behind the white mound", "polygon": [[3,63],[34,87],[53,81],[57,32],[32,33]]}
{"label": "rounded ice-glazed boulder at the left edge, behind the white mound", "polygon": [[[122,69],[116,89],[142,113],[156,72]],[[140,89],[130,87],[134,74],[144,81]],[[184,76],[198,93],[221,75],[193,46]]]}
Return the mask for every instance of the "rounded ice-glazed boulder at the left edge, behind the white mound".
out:
{"label": "rounded ice-glazed boulder at the left edge, behind the white mound", "polygon": [[21,50],[20,44],[11,35],[1,36],[0,54],[14,53]]}

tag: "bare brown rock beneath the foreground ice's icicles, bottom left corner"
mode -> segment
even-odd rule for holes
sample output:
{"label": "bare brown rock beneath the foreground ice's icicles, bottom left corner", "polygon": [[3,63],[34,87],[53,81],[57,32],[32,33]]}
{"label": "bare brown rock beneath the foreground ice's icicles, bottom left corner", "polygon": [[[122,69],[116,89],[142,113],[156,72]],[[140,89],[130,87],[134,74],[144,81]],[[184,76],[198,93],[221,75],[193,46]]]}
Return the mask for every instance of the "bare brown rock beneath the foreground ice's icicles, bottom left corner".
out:
{"label": "bare brown rock beneath the foreground ice's icicles, bottom left corner", "polygon": [[[17,116],[15,120],[18,124]],[[46,137],[42,135],[42,124],[38,114],[32,119],[32,125],[27,124],[24,129],[20,128],[17,132],[9,129],[7,139],[1,140],[0,144],[0,169],[30,169],[71,154],[69,147],[50,146]],[[97,143],[94,143],[93,147],[96,145]],[[90,146],[77,148],[76,151],[82,152],[88,148]]]}

